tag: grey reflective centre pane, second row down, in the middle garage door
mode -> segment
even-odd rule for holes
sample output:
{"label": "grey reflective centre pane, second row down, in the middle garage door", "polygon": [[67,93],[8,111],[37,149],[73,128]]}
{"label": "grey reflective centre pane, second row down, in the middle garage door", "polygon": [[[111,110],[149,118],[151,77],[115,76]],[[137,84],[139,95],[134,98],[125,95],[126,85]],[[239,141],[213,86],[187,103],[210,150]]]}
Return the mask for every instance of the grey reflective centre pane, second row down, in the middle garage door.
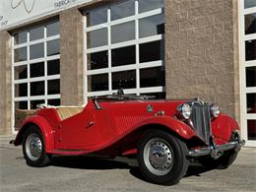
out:
{"label": "grey reflective centre pane, second row down, in the middle garage door", "polygon": [[122,42],[135,38],[135,22],[127,22],[124,24],[111,27],[111,42]]}

